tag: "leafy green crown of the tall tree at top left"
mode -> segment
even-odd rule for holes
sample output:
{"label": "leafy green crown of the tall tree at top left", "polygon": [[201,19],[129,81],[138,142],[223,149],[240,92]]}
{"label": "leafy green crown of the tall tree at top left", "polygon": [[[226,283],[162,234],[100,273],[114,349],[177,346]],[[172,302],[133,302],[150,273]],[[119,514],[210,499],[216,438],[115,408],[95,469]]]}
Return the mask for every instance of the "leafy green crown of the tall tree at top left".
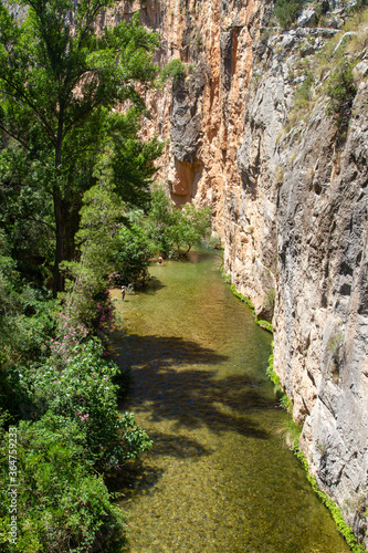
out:
{"label": "leafy green crown of the tall tree at top left", "polygon": [[9,115],[20,106],[31,116],[30,126],[40,124],[55,146],[94,109],[111,108],[132,93],[130,100],[143,106],[134,85],[155,79],[158,69],[151,53],[158,41],[137,18],[97,38],[95,17],[111,2],[78,4],[73,30],[73,2],[22,3],[29,17],[20,28],[3,6],[0,11],[0,90]]}

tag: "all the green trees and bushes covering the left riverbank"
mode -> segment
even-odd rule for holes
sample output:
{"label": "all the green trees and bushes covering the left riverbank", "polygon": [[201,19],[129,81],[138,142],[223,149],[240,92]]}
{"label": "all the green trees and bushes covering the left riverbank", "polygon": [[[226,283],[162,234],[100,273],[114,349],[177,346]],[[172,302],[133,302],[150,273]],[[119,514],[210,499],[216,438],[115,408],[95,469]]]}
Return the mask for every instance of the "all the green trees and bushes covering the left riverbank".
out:
{"label": "all the green trees and bushes covering the left riverbank", "polygon": [[207,210],[175,208],[164,188],[150,207],[162,144],[139,131],[158,39],[137,18],[96,33],[112,3],[20,0],[20,20],[0,4],[4,552],[124,542],[124,514],[104,479],[151,441],[118,409],[127,378],[106,347],[108,285],[145,281],[153,257],[179,254],[209,230]]}

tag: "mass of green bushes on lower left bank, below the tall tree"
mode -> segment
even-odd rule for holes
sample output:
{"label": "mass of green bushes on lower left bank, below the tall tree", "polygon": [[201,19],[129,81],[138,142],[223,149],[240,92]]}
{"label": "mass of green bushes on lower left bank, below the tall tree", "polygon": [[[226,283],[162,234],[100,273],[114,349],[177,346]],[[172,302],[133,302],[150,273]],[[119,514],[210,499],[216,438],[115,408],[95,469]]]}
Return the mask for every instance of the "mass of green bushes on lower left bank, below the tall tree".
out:
{"label": "mass of green bushes on lower left bank, below the tall tree", "polygon": [[[104,474],[123,470],[124,462],[151,442],[132,414],[119,415],[118,369],[102,342],[61,313],[55,301],[41,302],[17,279],[10,283],[6,271],[1,283],[1,319],[7,324],[1,332],[0,401],[3,421],[18,421],[17,551],[92,551],[125,528]],[[1,551],[13,550],[9,440],[2,431]]]}

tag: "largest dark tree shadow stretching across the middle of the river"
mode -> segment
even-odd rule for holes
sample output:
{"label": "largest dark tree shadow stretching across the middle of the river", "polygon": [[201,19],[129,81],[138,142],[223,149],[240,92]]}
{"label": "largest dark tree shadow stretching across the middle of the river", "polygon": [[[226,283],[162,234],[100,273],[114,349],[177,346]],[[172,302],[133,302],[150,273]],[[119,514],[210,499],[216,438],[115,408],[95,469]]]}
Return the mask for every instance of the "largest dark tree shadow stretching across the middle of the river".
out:
{"label": "largest dark tree shadow stretching across the middle of the river", "polygon": [[170,420],[176,430],[206,425],[215,432],[269,437],[250,416],[257,409],[274,409],[274,399],[265,396],[264,380],[246,374],[219,379],[215,365],[227,356],[179,337],[130,335],[123,347],[117,361],[134,375],[128,408],[136,413],[149,408],[153,421]]}

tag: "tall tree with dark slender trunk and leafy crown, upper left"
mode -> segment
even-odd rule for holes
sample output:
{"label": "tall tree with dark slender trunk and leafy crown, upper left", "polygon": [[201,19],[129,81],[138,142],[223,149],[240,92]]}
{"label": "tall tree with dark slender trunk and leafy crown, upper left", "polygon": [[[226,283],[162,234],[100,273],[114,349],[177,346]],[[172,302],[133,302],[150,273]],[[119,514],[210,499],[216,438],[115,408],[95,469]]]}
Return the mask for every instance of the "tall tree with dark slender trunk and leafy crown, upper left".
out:
{"label": "tall tree with dark slender trunk and leafy crown, upper left", "polygon": [[[157,74],[151,54],[158,39],[139,27],[137,18],[96,32],[97,15],[113,0],[18,3],[28,9],[22,24],[0,6],[0,129],[6,142],[11,138],[21,146],[31,165],[42,161],[39,186],[53,200],[56,296],[63,289],[60,263],[73,255],[82,196],[94,184],[95,156],[114,134],[120,176],[117,135],[124,121],[112,109],[129,102],[136,114],[144,112],[136,85],[147,87]],[[139,150],[139,140],[130,138],[129,147],[130,154],[134,147]],[[145,170],[133,188],[148,187],[157,153],[157,144],[135,153]]]}

